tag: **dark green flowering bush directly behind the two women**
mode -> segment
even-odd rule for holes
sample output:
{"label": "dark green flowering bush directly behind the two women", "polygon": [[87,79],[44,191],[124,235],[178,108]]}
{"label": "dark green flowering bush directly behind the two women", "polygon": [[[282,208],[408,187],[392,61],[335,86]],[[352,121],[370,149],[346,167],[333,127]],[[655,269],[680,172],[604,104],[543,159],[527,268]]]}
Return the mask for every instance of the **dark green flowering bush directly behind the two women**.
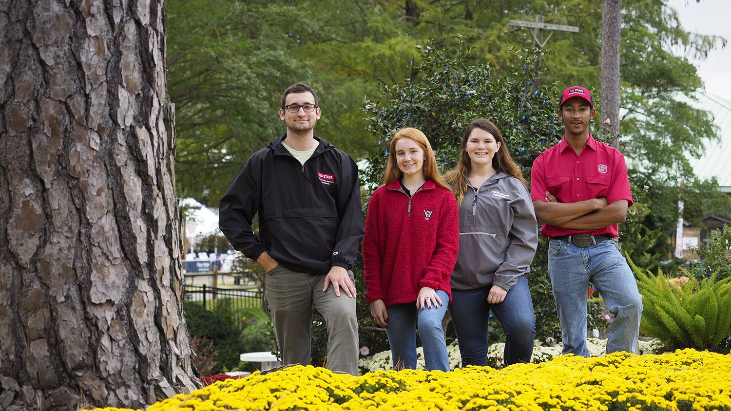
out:
{"label": "dark green flowering bush directly behind the two women", "polygon": [[[561,141],[564,130],[558,119],[556,85],[549,85],[544,79],[538,88],[533,87],[532,79],[539,75],[534,66],[536,50],[528,47],[510,50],[514,64],[510,74],[502,77],[494,74],[488,64],[470,61],[470,50],[463,42],[455,48],[428,45],[418,50],[422,60],[412,62],[411,77],[393,86],[382,86],[381,91],[387,96],[384,101],[366,99],[363,111],[374,145],[368,158],[370,167],[361,173],[363,186],[373,188],[382,183],[390,138],[404,127],[423,131],[442,172],[451,169],[458,158],[464,129],[475,118],[486,118],[498,126],[512,158],[530,181],[533,161],[539,153]],[[546,249],[547,242],[541,240],[529,274],[536,338],[540,340],[561,337]],[[360,293],[364,293],[363,280],[359,283]],[[361,337],[372,340],[374,321],[365,307],[361,333],[368,335]],[[603,328],[606,321],[599,315],[600,308],[594,302],[588,303],[588,307],[589,327]],[[385,340],[385,335],[382,338]]]}

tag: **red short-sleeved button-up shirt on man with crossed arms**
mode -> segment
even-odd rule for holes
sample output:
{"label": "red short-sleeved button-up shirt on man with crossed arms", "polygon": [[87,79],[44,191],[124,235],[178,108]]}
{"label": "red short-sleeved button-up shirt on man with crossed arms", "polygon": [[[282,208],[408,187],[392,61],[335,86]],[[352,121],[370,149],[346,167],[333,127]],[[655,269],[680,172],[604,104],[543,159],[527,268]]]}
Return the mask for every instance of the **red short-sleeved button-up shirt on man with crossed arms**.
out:
{"label": "red short-sleeved button-up shirt on man with crossed arms", "polygon": [[[531,200],[545,201],[546,191],[562,203],[604,197],[608,204],[627,200],[632,205],[624,155],[614,147],[597,142],[591,134],[580,155],[576,155],[564,136],[561,142],[536,158],[531,170]],[[543,237],[578,233],[618,235],[616,224],[598,230],[571,230],[550,224],[541,227]]]}

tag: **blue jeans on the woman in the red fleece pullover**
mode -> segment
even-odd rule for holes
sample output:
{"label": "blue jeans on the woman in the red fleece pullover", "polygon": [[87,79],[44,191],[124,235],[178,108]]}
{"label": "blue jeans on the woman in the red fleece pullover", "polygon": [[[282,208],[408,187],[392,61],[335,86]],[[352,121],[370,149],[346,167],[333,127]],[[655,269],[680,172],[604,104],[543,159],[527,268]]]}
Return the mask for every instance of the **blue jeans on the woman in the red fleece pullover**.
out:
{"label": "blue jeans on the woman in the red fleece pullover", "polygon": [[[426,369],[450,370],[450,356],[444,340],[442,319],[447,313],[450,296],[447,291],[437,290],[442,307],[432,304],[431,308],[417,310],[416,301],[406,304],[393,304],[386,308],[388,326],[386,334],[391,345],[393,369],[416,369],[416,328],[419,324],[419,337],[424,347]],[[432,301],[433,303],[433,301]]]}

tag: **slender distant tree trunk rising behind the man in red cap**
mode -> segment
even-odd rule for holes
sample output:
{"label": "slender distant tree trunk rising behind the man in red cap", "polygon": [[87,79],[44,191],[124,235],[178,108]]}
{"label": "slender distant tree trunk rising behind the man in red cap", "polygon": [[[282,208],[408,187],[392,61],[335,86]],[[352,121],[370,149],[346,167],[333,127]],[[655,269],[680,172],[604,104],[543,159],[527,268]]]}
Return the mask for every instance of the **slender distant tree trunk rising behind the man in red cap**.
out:
{"label": "slender distant tree trunk rising behind the man in red cap", "polygon": [[[621,44],[622,0],[602,0],[602,127],[619,148],[619,46]],[[604,121],[610,119],[610,126]]]}

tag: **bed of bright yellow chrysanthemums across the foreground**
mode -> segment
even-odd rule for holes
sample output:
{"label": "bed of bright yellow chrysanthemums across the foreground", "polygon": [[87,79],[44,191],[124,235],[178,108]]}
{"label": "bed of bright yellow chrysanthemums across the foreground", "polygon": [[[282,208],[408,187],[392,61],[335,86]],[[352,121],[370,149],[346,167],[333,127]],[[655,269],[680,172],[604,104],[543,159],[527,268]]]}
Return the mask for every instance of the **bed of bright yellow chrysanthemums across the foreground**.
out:
{"label": "bed of bright yellow chrysanthemums across the foreground", "polygon": [[385,371],[360,377],[292,366],[179,394],[147,411],[731,411],[730,370],[731,355],[690,349],[659,356],[558,356],[543,364],[499,370],[469,366],[453,372]]}

